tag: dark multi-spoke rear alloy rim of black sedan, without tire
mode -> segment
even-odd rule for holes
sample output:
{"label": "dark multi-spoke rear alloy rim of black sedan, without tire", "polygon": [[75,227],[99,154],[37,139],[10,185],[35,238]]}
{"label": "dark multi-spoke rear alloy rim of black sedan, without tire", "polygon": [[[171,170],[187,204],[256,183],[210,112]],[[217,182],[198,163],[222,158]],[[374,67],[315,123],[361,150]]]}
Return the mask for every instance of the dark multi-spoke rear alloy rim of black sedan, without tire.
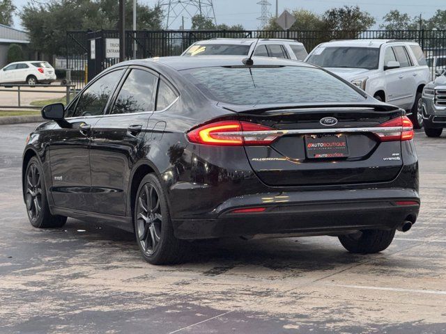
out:
{"label": "dark multi-spoke rear alloy rim of black sedan, without tire", "polygon": [[152,184],[146,183],[138,196],[137,233],[139,243],[148,255],[153,255],[160,244],[161,225],[160,196]]}

